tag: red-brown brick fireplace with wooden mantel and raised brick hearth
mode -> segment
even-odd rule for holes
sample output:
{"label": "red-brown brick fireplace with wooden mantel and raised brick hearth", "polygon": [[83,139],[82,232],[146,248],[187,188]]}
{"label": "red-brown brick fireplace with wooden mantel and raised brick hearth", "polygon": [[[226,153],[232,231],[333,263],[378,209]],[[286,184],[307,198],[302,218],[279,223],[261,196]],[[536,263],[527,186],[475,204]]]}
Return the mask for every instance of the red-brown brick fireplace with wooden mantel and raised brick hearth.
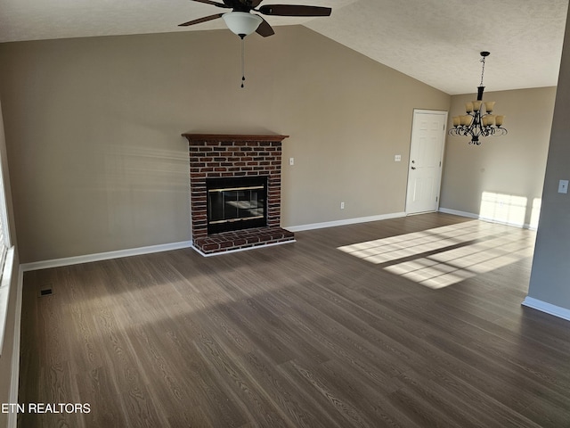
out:
{"label": "red-brown brick fireplace with wooden mantel and raised brick hearth", "polygon": [[[280,226],[281,144],[287,136],[183,136],[189,143],[192,243],[197,251],[211,255],[295,241],[293,233]],[[237,184],[240,177],[246,182],[253,177],[266,179],[264,200],[258,202],[263,205],[264,224],[257,222],[255,226],[249,227],[240,218],[231,218],[230,226],[232,223],[240,225],[236,230],[212,233],[216,229],[211,225],[212,199],[208,197],[208,189],[213,187],[211,182],[230,178],[231,190],[240,189],[242,187]],[[232,203],[236,204],[235,201]]]}

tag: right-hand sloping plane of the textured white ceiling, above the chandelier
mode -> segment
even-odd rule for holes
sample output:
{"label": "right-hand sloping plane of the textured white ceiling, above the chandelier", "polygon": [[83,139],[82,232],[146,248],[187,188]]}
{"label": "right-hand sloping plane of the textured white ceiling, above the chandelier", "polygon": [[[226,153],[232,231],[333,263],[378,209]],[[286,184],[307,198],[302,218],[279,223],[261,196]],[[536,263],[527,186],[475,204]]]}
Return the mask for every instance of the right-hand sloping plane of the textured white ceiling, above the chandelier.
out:
{"label": "right-hand sloping plane of the textured white ceiling, above the chandelier", "polygon": [[[476,7],[475,7],[476,6]],[[359,0],[306,26],[448,94],[556,86],[567,0]]]}

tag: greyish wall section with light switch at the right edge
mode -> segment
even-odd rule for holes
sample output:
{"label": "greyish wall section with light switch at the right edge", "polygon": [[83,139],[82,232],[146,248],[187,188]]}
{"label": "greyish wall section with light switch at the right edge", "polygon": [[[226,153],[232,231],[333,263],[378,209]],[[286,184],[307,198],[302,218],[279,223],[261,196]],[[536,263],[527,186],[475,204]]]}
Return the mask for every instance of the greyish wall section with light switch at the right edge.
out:
{"label": "greyish wall section with light switch at the right edge", "polygon": [[570,180],[570,21],[558,77],[550,149],[542,193],[528,296],[558,306],[570,314],[570,193],[558,193],[558,180]]}

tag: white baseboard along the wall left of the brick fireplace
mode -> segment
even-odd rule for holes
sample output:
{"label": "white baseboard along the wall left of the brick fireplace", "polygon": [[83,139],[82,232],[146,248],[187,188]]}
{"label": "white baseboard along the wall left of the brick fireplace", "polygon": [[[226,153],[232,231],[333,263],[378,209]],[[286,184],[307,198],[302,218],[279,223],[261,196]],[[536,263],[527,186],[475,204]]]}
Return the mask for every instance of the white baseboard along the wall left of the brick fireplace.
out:
{"label": "white baseboard along the wall left of the brick fireplace", "polygon": [[24,272],[28,272],[28,270],[59,268],[61,266],[77,265],[79,263],[89,263],[92,261],[118,259],[119,257],[139,256],[141,254],[151,254],[153,252],[179,250],[181,248],[190,248],[191,246],[192,246],[191,241],[183,241],[182,243],[163,243],[160,245],[151,245],[148,247],[99,252],[96,254],[86,254],[85,256],[75,256],[75,257],[66,257],[62,259],[34,261],[32,263],[22,263],[20,267]]}

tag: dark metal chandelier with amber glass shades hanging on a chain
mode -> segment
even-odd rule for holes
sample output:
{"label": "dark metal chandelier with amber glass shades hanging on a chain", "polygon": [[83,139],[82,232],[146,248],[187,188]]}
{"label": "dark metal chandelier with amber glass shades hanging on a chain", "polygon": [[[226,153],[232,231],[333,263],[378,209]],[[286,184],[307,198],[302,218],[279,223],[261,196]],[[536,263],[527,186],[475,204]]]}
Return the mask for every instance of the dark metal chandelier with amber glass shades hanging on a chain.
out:
{"label": "dark metal chandelier with amber glass shades hanging on a chain", "polygon": [[467,114],[453,117],[453,128],[449,130],[450,136],[470,136],[469,144],[479,145],[479,136],[504,136],[507,129],[502,128],[505,120],[504,116],[495,116],[493,113],[494,101],[483,101],[483,74],[485,73],[485,58],[491,53],[482,52],[481,62],[481,84],[477,86],[477,99],[470,103],[465,103]]}

